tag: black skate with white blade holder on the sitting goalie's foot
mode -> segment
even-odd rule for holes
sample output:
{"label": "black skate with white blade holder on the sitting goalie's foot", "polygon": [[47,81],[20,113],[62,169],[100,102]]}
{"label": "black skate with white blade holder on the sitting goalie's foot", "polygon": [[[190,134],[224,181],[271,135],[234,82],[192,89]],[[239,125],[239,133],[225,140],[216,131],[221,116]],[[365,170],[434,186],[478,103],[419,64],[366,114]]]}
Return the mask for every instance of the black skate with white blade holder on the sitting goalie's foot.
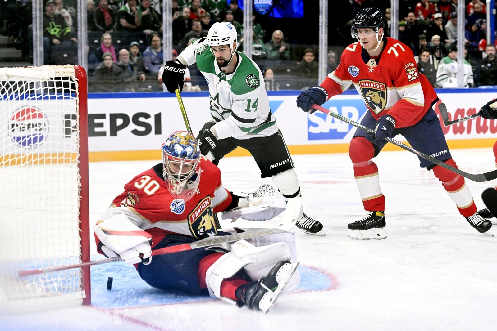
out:
{"label": "black skate with white blade holder on the sitting goalie's foot", "polygon": [[[239,307],[247,306],[251,310],[260,310],[267,313],[274,305],[281,291],[295,273],[299,263],[280,261],[274,265],[265,277],[249,282],[237,288],[237,302]],[[241,291],[240,296],[238,295]]]}

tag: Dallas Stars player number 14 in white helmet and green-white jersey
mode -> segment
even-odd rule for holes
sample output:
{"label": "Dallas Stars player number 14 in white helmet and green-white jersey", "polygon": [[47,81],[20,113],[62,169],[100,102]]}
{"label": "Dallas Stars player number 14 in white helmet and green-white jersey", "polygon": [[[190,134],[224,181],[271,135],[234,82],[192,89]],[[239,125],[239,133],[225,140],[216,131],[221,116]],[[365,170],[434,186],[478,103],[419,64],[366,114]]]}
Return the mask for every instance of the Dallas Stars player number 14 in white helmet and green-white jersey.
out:
{"label": "Dallas Stars player number 14 in white helmet and green-white jersey", "polygon": [[[212,25],[207,37],[188,46],[175,61],[167,61],[162,81],[173,93],[183,86],[186,66],[195,62],[209,84],[212,120],[197,140],[202,154],[214,164],[241,146],[259,166],[261,177],[272,177],[285,199],[301,196],[292,157],[269,109],[259,67],[236,52],[237,30],[229,22]],[[297,227],[309,234],[324,235],[323,225],[304,212]]]}

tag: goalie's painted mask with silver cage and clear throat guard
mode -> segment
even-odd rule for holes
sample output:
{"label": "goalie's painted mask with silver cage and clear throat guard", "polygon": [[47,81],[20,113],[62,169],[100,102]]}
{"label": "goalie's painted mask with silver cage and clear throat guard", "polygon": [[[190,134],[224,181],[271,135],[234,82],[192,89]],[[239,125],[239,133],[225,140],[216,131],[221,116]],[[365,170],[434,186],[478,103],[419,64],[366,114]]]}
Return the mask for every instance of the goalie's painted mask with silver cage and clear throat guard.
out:
{"label": "goalie's painted mask with silver cage and clear throat guard", "polygon": [[197,140],[189,132],[172,132],[162,144],[164,180],[173,198],[193,198],[200,183],[199,161]]}

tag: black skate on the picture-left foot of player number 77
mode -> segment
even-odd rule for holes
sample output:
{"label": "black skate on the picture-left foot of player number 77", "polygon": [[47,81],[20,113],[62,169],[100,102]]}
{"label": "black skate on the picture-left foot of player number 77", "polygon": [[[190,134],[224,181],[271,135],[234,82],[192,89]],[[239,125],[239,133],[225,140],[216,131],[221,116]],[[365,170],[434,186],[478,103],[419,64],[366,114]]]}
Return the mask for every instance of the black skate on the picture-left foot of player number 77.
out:
{"label": "black skate on the picture-left foot of player number 77", "polygon": [[347,228],[350,239],[381,240],[387,238],[384,211],[368,211],[366,216],[350,223]]}

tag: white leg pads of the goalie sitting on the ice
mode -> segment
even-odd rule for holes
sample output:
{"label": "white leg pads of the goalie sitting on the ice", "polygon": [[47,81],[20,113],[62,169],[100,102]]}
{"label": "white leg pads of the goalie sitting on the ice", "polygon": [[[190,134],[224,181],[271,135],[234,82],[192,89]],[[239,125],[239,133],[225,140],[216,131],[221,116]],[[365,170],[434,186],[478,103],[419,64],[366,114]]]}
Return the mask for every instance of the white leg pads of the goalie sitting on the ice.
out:
{"label": "white leg pads of the goalie sitting on the ice", "polygon": [[[250,279],[257,280],[266,276],[277,262],[283,260],[294,261],[288,246],[284,242],[255,247],[246,240],[239,240],[232,245],[231,252],[223,255],[207,269],[205,282],[209,295],[226,302],[235,303],[233,300],[221,296],[221,283],[224,279],[233,277],[235,273],[244,268]],[[299,282],[300,274],[296,270],[286,285],[285,292],[297,287]]]}

